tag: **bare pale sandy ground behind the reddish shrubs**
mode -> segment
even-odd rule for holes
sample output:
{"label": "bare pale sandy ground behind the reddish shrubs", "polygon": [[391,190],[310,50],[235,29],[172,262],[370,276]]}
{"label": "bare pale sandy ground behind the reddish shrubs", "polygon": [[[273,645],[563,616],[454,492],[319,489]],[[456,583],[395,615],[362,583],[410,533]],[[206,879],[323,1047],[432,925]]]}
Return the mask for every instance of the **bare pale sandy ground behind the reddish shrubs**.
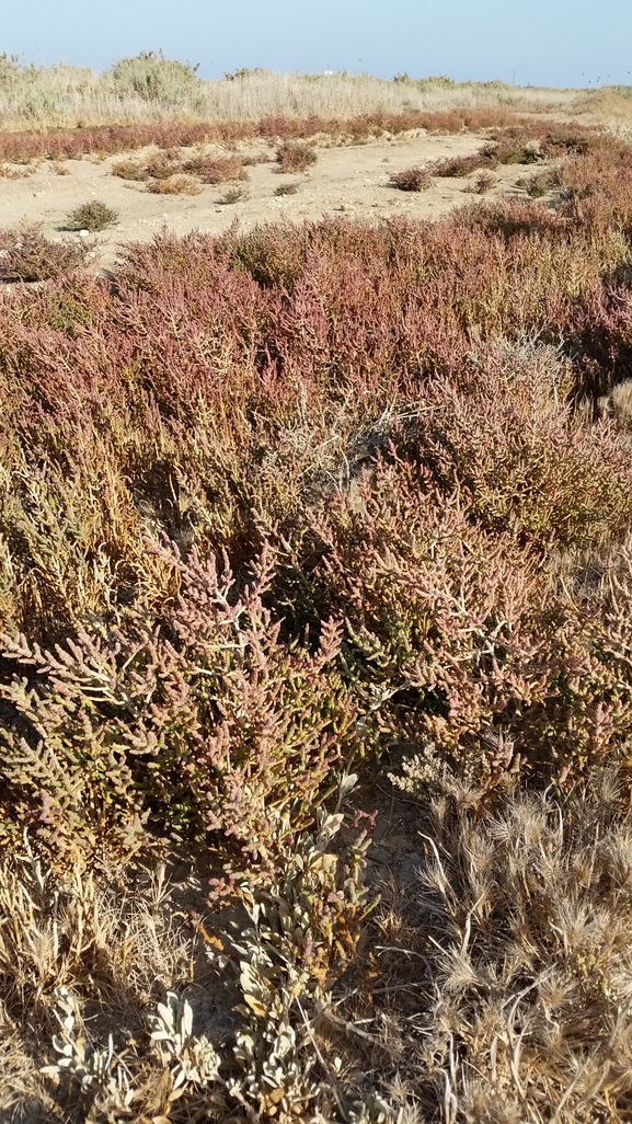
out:
{"label": "bare pale sandy ground behind the reddish shrubs", "polygon": [[[247,167],[250,183],[243,187],[249,198],[231,205],[220,201],[228,184],[205,185],[198,196],[151,194],[145,184],[112,174],[111,166],[123,158],[120,154],[106,160],[66,161],[62,166],[67,174],[57,174],[52,162],[43,161],[33,174],[22,179],[0,179],[0,228],[22,221],[42,223],[47,237],[76,238],[79,235],[63,230],[67,215],[90,199],[102,200],[119,212],[117,226],[99,236],[102,245],[97,265],[107,268],[115,263],[123,243],[148,241],[164,226],[183,235],[193,229],[219,234],[235,219],[240,228],[249,229],[263,223],[301,223],[341,214],[372,219],[392,215],[436,218],[477,198],[466,190],[471,178],[470,181],[435,180],[430,190],[415,193],[389,188],[389,175],[444,156],[469,155],[484,143],[484,137],[469,134],[414,134],[349,147],[318,147],[317,163],[304,174],[279,174],[272,145],[243,145],[241,154],[265,153],[269,162]],[[208,149],[218,156],[229,154],[216,146]],[[538,171],[541,166],[511,165],[496,170],[496,184],[488,197],[507,190],[515,192],[516,180]],[[274,196],[274,189],[283,182],[298,183],[297,193]]]}

